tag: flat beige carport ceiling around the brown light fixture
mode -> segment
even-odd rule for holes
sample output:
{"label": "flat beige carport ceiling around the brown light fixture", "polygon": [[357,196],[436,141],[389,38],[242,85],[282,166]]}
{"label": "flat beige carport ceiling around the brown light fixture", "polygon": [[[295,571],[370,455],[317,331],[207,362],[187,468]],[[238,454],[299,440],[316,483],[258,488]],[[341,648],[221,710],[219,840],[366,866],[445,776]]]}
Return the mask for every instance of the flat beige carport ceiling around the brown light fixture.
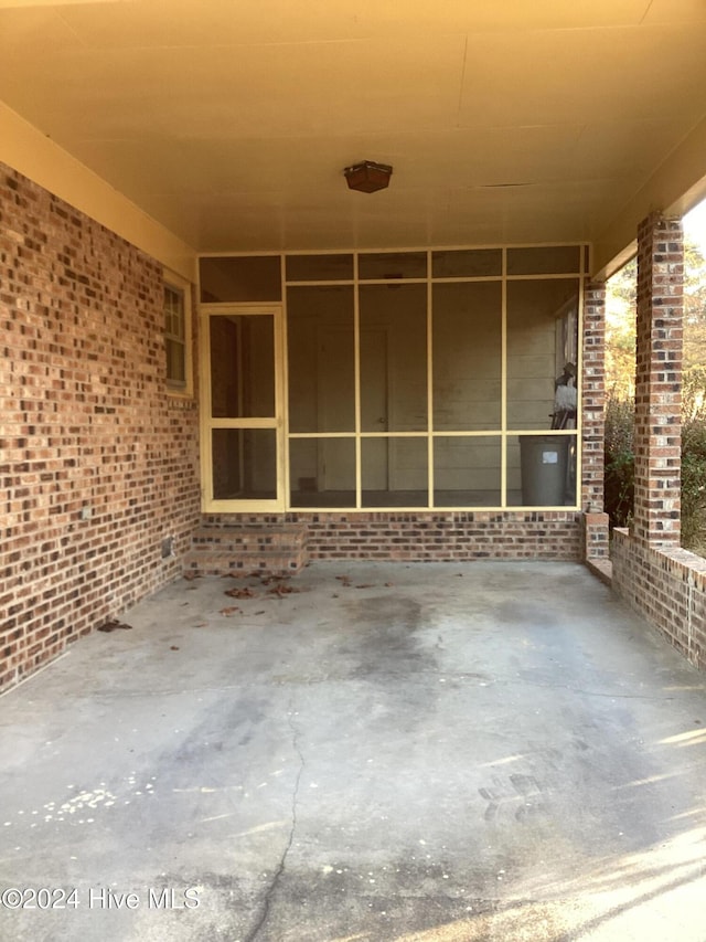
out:
{"label": "flat beige carport ceiling around the brown light fixture", "polygon": [[0,0],[0,99],[200,252],[598,242],[706,176],[706,0]]}

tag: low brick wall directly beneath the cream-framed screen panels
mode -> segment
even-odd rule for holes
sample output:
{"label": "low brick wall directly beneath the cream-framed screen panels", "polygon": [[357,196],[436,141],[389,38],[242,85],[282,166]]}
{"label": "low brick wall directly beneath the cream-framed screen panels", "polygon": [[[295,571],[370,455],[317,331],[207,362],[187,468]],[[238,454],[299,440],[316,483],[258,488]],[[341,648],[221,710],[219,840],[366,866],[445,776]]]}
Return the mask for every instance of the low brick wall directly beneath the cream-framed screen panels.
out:
{"label": "low brick wall directly beneath the cream-framed screen panels", "polygon": [[306,523],[313,560],[578,560],[581,516],[574,510],[216,514],[204,523]]}

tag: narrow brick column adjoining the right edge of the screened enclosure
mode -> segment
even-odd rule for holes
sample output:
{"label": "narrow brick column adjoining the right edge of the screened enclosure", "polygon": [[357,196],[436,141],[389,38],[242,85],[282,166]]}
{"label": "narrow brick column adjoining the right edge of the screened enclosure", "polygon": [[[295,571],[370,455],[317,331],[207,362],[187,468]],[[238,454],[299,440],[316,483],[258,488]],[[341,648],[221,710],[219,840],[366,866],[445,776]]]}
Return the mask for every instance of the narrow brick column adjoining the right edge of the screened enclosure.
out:
{"label": "narrow brick column adjoining the right edge of the screened enclosure", "polygon": [[603,512],[606,453],[606,284],[584,287],[581,353],[581,507],[584,558],[608,558],[608,515]]}

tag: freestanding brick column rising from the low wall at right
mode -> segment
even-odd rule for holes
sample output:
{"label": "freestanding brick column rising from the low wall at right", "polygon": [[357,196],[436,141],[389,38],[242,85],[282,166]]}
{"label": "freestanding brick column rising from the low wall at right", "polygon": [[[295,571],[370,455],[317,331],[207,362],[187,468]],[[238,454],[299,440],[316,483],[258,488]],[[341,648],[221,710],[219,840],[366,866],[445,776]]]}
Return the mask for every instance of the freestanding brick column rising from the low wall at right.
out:
{"label": "freestanding brick column rising from the low wall at right", "polygon": [[632,534],[662,547],[680,544],[683,292],[682,221],[653,213],[638,227]]}

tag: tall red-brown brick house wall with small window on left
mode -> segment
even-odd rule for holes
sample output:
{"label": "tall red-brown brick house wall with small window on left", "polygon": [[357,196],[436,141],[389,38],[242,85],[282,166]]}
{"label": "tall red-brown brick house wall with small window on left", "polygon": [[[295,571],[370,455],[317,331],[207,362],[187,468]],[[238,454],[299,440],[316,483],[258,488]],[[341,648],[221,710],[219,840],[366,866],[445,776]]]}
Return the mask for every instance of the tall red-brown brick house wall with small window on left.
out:
{"label": "tall red-brown brick house wall with small window on left", "polygon": [[197,422],[162,331],[160,265],[0,165],[0,688],[181,571]]}

